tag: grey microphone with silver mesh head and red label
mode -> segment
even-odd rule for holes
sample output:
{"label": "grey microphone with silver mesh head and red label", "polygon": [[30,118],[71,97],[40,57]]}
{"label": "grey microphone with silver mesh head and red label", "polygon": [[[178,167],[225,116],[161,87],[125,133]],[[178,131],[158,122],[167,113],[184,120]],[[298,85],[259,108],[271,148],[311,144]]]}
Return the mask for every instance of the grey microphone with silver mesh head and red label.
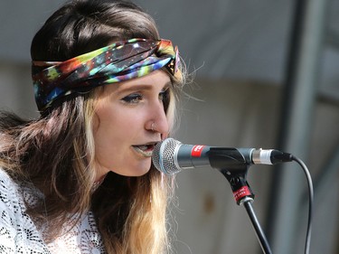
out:
{"label": "grey microphone with silver mesh head and red label", "polygon": [[176,174],[183,169],[202,166],[227,170],[244,165],[276,165],[291,162],[292,155],[275,149],[185,145],[174,138],[166,138],[156,144],[152,161],[164,174]]}

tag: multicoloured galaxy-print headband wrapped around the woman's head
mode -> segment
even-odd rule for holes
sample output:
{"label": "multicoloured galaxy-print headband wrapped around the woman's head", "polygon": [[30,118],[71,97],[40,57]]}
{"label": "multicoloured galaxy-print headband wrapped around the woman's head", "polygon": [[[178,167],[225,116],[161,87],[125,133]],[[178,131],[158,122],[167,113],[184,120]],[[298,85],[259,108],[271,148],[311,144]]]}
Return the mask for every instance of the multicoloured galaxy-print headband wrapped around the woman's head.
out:
{"label": "multicoloured galaxy-print headband wrapped around the woman's head", "polygon": [[148,39],[116,42],[68,61],[33,61],[33,66],[46,66],[33,75],[35,101],[43,111],[57,99],[142,77],[162,67],[174,75],[178,64],[178,51],[171,41]]}

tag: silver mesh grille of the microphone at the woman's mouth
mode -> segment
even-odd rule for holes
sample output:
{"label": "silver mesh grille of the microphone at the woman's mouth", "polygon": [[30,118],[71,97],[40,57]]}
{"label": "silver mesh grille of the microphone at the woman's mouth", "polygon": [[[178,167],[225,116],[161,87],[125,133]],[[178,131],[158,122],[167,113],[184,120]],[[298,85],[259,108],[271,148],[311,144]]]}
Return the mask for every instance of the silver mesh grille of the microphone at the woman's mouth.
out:
{"label": "silver mesh grille of the microphone at the woman's mouth", "polygon": [[174,163],[175,151],[181,144],[174,138],[166,138],[163,142],[156,144],[152,161],[157,170],[164,174],[176,174],[181,171],[181,168]]}

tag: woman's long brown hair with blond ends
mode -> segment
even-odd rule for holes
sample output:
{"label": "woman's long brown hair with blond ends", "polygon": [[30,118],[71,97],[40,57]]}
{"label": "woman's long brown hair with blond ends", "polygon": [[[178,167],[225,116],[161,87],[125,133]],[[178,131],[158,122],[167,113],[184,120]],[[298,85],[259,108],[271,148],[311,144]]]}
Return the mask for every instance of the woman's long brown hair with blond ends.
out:
{"label": "woman's long brown hair with blond ends", "polygon": [[[65,61],[130,38],[159,39],[154,20],[137,5],[72,1],[36,33],[31,55],[33,61]],[[184,80],[170,78],[173,86],[165,110],[173,125],[175,101]],[[27,212],[38,226],[48,221],[46,242],[58,236],[70,213],[79,214],[80,220],[81,214],[91,210],[108,253],[163,253],[171,179],[153,165],[140,177],[110,172],[93,193],[92,119],[99,89],[63,101],[36,120],[2,112],[0,166],[14,180],[33,183],[43,193],[44,199],[28,206]]]}

